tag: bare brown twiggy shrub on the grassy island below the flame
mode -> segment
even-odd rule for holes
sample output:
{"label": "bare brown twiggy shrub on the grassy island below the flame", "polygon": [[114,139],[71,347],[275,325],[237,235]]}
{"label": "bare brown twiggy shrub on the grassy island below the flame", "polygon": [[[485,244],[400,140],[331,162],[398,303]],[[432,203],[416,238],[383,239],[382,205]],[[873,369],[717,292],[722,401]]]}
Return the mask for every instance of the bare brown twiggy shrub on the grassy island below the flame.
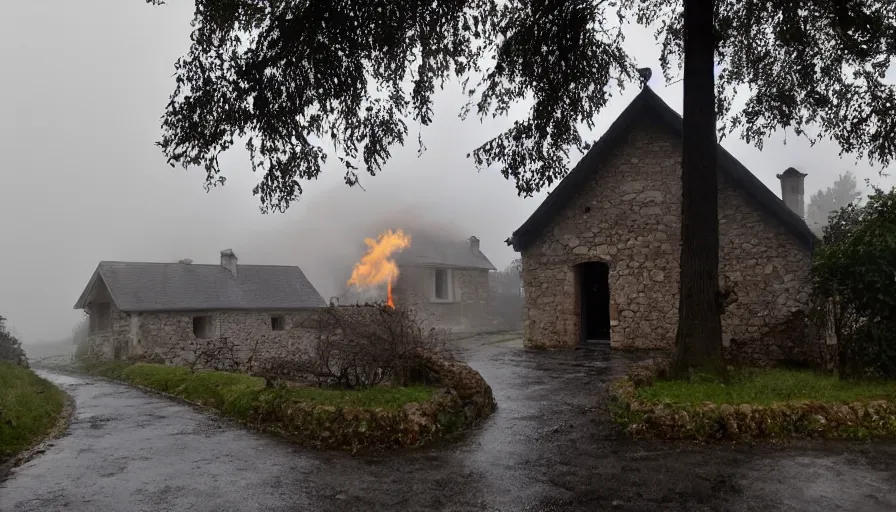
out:
{"label": "bare brown twiggy shrub on the grassy island below the flame", "polygon": [[312,326],[310,347],[292,357],[268,358],[252,373],[269,386],[278,380],[365,389],[388,382],[404,386],[431,380],[423,357],[443,350],[444,339],[427,329],[413,310],[386,305],[330,307]]}

